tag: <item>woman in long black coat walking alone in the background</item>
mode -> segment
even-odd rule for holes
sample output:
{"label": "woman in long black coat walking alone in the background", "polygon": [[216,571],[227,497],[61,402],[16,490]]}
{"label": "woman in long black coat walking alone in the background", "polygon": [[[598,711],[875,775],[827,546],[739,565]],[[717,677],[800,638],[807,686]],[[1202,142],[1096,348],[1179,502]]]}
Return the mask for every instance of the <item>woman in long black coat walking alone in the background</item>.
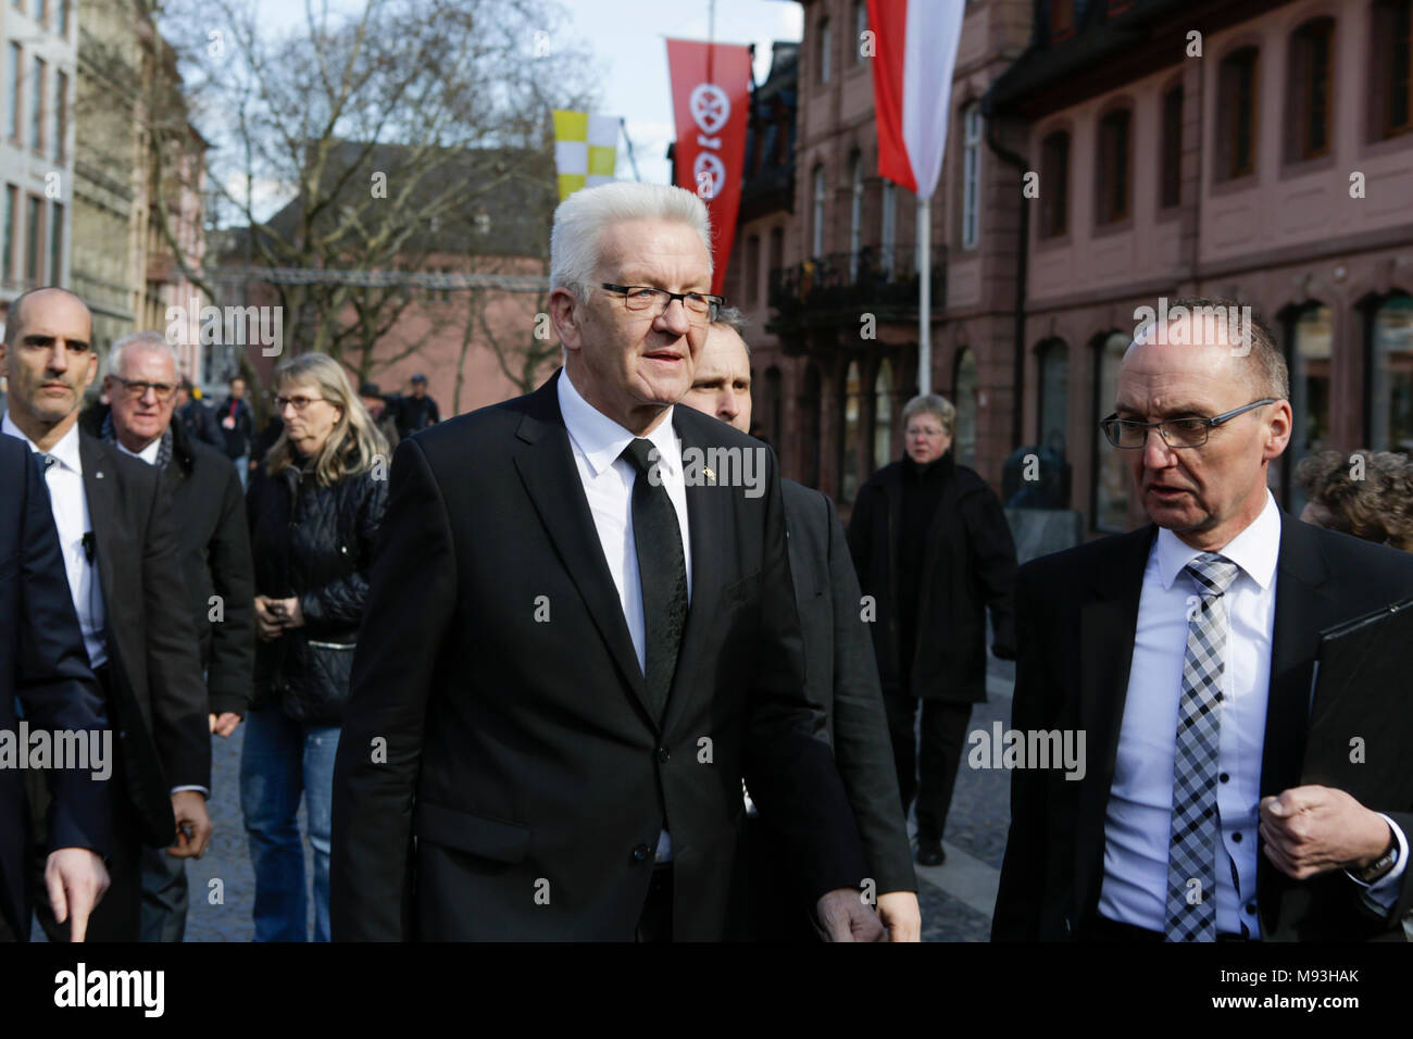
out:
{"label": "woman in long black coat walking alone in the background", "polygon": [[907,454],[859,491],[848,534],[859,584],[877,611],[873,650],[893,762],[904,816],[917,796],[923,865],[945,858],[942,830],[966,724],[972,704],[986,698],[988,608],[992,652],[1016,656],[1016,546],[995,492],[952,458],[955,418],[957,409],[935,394],[907,403]]}

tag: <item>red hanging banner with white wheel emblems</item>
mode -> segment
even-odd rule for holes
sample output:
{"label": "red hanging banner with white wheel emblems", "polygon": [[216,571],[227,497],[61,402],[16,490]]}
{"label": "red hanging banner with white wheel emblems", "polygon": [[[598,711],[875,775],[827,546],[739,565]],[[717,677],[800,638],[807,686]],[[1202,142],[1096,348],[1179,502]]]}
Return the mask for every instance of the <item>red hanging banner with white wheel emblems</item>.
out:
{"label": "red hanging banner with white wheel emblems", "polygon": [[712,228],[712,293],[726,280],[736,237],[740,177],[746,163],[750,117],[750,48],[668,40],[677,116],[675,171],[678,185],[706,204]]}

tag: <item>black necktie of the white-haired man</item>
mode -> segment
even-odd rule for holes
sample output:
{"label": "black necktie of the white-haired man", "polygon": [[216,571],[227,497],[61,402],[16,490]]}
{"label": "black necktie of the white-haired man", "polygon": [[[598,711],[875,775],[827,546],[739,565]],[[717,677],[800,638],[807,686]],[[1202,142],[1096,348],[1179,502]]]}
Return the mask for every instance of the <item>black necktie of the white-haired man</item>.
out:
{"label": "black necktie of the white-haired man", "polygon": [[637,469],[637,479],[633,481],[633,541],[643,588],[643,686],[647,701],[661,718],[687,622],[687,561],[677,509],[661,479],[650,476],[657,468],[649,454],[653,451],[651,441],[639,438],[623,448],[620,457]]}

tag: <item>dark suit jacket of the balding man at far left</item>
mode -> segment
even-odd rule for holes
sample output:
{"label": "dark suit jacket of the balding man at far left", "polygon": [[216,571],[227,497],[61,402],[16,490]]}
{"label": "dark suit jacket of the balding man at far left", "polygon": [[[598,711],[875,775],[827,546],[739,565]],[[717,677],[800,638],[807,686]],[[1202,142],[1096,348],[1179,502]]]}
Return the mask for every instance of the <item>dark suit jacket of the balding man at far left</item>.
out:
{"label": "dark suit jacket of the balding man at far left", "polygon": [[211,787],[211,725],[171,493],[147,462],[79,434],[103,588],[110,710],[126,783],[153,845],[172,843],[171,787]]}

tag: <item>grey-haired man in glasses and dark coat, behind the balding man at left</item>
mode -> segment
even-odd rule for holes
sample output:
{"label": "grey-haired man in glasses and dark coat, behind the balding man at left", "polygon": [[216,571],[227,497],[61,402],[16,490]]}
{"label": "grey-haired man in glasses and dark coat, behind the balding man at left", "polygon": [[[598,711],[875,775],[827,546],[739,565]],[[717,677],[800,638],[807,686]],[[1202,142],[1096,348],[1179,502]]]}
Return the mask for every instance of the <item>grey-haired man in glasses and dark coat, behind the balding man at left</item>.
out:
{"label": "grey-haired man in glasses and dark coat, behind the balding man at left", "polygon": [[[211,731],[229,736],[246,712],[254,670],[254,573],[240,476],[226,452],[187,435],[177,409],[177,352],[160,332],[113,344],[103,394],[110,407],[83,427],[161,472],[171,492],[192,622],[206,676]],[[187,929],[187,861],[143,850],[143,941],[181,941]]]}

